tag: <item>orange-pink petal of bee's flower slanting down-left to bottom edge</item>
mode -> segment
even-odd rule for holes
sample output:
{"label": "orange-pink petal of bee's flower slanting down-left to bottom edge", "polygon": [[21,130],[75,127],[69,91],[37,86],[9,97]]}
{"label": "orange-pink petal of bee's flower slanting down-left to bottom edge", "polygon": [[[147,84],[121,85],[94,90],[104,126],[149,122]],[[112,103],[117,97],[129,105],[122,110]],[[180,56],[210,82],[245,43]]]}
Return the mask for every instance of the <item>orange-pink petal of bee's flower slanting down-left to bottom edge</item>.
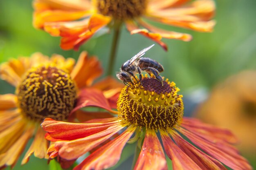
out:
{"label": "orange-pink petal of bee's flower slanting down-left to bottom edge", "polygon": [[74,170],[103,170],[114,166],[119,161],[121,152],[134,131],[135,127],[128,127],[119,137],[89,155]]}

